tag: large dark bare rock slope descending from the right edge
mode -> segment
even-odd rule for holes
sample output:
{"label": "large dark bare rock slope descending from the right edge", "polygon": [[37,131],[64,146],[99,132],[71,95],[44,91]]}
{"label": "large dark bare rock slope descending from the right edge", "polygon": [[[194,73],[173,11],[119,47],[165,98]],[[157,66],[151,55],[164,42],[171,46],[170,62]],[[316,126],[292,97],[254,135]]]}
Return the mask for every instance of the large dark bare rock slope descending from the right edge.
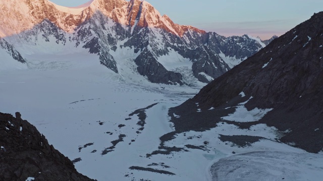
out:
{"label": "large dark bare rock slope descending from the right edge", "polygon": [[[173,108],[176,130],[208,129],[234,112],[225,109],[271,108],[262,119],[232,123],[241,128],[265,123],[285,135],[284,143],[317,153],[323,149],[323,12],[235,66],[201,89],[191,100]],[[239,95],[241,92],[245,97]],[[197,106],[198,105],[198,106]],[[215,108],[208,110],[211,107]],[[196,111],[201,109],[202,112]]]}

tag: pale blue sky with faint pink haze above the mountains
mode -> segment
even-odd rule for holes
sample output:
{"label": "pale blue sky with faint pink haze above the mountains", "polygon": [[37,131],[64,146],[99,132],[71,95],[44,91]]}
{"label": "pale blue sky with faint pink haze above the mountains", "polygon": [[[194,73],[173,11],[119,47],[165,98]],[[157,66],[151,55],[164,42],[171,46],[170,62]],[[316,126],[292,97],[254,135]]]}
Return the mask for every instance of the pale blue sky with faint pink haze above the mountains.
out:
{"label": "pale blue sky with faint pink haze above the mountains", "polygon": [[[50,0],[75,7],[88,0]],[[146,0],[174,23],[224,36],[250,34],[265,40],[282,35],[323,11],[323,0]]]}

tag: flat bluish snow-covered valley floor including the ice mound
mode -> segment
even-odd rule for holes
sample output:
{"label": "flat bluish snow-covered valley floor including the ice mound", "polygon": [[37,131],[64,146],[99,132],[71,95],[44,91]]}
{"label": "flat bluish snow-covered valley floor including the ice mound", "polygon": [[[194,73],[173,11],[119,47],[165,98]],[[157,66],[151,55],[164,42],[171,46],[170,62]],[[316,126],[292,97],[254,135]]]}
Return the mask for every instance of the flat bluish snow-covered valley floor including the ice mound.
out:
{"label": "flat bluish snow-covered valley floor including the ice mound", "polygon": [[[159,137],[174,131],[168,109],[191,98],[199,89],[152,84],[136,79],[140,76],[130,80],[101,66],[94,56],[81,57],[73,61],[35,59],[29,64],[32,69],[0,71],[0,111],[21,112],[22,118],[35,125],[50,144],[74,160],[79,172],[91,178],[320,180],[323,177],[322,154],[306,153],[276,142],[275,138],[280,136],[276,128],[263,124],[244,130],[223,122],[208,131],[179,133],[165,142],[165,146],[182,151],[147,157],[154,151],[165,151],[158,148]],[[239,115],[249,114],[237,109]],[[219,134],[263,139],[239,147],[221,141]],[[239,169],[230,171],[229,168],[239,164]],[[213,174],[221,175],[219,179],[211,176],[211,166],[216,167]]]}

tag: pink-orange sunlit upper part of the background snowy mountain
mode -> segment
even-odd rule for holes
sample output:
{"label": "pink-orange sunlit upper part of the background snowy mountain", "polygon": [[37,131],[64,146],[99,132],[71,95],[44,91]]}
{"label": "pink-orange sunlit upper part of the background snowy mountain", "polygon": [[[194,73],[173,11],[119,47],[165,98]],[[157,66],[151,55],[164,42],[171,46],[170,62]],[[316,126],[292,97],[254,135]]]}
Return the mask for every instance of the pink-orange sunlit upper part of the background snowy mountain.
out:
{"label": "pink-orange sunlit upper part of the background snowy mountain", "polygon": [[[19,34],[32,29],[48,19],[66,32],[72,33],[84,21],[100,12],[115,23],[133,29],[150,27],[164,29],[174,35],[183,36],[187,31],[204,33],[191,26],[175,24],[168,16],[161,16],[146,1],[131,0],[92,0],[81,6],[68,8],[47,0],[0,0],[0,37]],[[17,18],[19,17],[19,18]]]}

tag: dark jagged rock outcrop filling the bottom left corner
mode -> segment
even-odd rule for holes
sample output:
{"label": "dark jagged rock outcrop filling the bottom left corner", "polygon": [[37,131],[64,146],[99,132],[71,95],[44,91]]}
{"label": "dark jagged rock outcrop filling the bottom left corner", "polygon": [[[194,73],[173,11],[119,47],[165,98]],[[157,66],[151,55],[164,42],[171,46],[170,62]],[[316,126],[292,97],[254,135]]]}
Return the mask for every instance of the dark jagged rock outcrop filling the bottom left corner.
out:
{"label": "dark jagged rock outcrop filling the bottom left corner", "polygon": [[0,113],[0,147],[1,180],[92,180],[78,173],[20,113],[16,118]]}

